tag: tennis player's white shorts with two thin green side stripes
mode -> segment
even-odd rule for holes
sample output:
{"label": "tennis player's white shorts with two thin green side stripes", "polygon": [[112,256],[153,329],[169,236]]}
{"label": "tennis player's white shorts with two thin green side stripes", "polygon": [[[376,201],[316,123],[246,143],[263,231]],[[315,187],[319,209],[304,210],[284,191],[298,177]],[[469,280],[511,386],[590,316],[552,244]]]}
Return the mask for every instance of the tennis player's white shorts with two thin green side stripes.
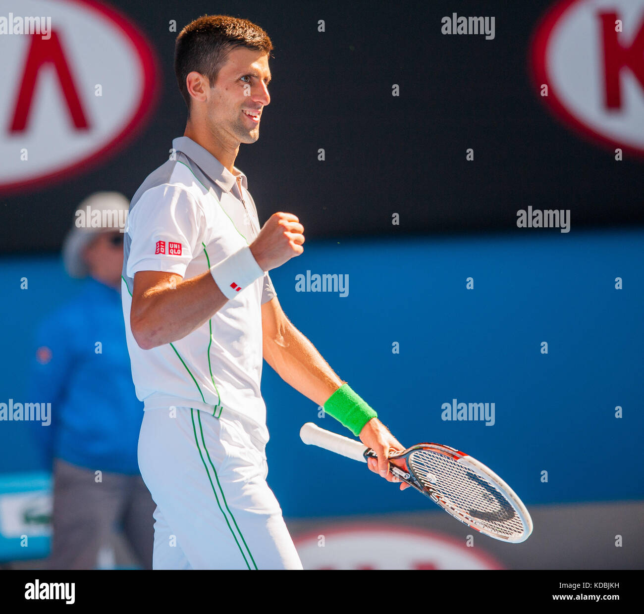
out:
{"label": "tennis player's white shorts with two thin green side stripes", "polygon": [[265,429],[189,407],[147,409],[138,465],[156,503],[153,569],[301,569],[266,483]]}

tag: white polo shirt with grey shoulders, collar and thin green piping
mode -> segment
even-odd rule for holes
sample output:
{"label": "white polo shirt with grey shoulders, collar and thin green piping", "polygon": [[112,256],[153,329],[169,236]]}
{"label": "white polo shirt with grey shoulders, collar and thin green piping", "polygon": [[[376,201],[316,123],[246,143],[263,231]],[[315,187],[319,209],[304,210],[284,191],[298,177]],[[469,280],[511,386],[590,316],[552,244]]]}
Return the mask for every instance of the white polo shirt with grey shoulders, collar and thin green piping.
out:
{"label": "white polo shirt with grey shoulders, collar and thin green piping", "polygon": [[132,336],[131,290],[138,271],[190,279],[260,232],[243,172],[234,168],[232,174],[187,136],[175,138],[173,149],[176,160],[161,165],[138,189],[126,225],[121,295],[137,396],[145,409],[174,405],[216,417],[241,414],[265,429],[261,304],[276,295],[268,273],[183,339],[144,350]]}

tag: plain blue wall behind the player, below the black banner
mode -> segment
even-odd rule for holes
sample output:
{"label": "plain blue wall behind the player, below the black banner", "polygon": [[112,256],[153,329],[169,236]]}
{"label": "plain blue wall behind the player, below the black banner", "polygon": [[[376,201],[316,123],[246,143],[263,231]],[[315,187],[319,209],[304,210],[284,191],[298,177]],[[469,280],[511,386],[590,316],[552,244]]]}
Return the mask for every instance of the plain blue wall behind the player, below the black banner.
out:
{"label": "plain blue wall behind the player, below the black banner", "polygon": [[[405,445],[468,452],[527,504],[642,499],[643,245],[644,231],[629,229],[312,240],[271,275],[291,321]],[[296,292],[295,275],[307,269],[348,274],[348,297]],[[25,400],[34,324],[77,283],[57,257],[5,257],[0,270],[0,400]],[[285,516],[426,508],[364,465],[301,443],[308,421],[349,433],[317,418],[266,363],[262,386],[269,483]],[[453,398],[494,402],[495,425],[443,422],[441,405]],[[32,452],[24,423],[0,422],[1,472],[39,469]]]}

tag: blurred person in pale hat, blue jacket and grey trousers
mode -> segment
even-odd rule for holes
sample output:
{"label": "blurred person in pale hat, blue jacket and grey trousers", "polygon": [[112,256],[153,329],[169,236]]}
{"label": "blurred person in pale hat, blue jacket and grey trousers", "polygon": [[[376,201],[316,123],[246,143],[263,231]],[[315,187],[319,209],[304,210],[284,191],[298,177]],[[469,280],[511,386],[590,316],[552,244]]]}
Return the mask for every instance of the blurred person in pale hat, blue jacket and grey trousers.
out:
{"label": "blurred person in pale hat, blue jacket and grey trousers", "polygon": [[63,260],[71,277],[86,280],[37,331],[33,395],[52,404],[52,421],[32,424],[53,470],[52,569],[96,568],[119,525],[140,566],[152,568],[155,503],[138,470],[143,404],[120,299],[128,208],[117,192],[79,205]]}

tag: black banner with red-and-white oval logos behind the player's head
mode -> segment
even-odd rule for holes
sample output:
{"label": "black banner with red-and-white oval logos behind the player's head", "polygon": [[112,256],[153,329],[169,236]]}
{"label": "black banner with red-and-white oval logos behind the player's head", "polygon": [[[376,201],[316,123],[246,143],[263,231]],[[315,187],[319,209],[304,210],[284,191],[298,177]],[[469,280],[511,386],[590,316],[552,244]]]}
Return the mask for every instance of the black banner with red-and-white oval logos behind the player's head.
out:
{"label": "black banner with red-and-white oval logos behind the player's head", "polygon": [[3,252],[58,249],[84,197],[131,198],[167,159],[186,115],[175,37],[213,12],[274,44],[260,139],[236,160],[262,223],[284,210],[307,237],[511,230],[528,207],[569,212],[573,230],[644,222],[639,0],[61,4],[79,23],[54,14],[31,55],[0,36]]}

